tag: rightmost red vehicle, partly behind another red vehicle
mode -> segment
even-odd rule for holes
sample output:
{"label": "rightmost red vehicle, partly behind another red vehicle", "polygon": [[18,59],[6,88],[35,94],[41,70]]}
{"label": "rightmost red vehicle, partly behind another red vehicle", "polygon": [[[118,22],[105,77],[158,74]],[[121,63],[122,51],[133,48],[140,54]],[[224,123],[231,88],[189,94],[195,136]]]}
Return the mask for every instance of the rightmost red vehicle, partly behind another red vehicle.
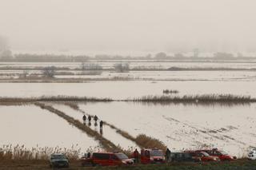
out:
{"label": "rightmost red vehicle, partly behind another red vehicle", "polygon": [[218,150],[217,148],[214,149],[205,149],[205,150],[198,150],[197,152],[206,152],[208,153],[210,156],[218,156],[218,158],[222,161],[230,161],[230,160],[235,160],[237,159],[236,156],[230,156],[228,153],[222,151],[222,150]]}

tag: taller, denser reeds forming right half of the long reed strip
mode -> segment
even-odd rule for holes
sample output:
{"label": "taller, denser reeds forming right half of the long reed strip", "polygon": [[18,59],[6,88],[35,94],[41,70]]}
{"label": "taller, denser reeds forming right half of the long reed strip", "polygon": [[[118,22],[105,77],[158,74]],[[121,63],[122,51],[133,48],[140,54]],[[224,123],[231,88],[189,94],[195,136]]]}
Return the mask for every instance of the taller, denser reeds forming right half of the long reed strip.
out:
{"label": "taller, denser reeds forming right half of the long reed strip", "polygon": [[134,99],[127,99],[124,101],[138,101],[138,102],[154,102],[154,103],[250,103],[256,102],[255,98],[250,96],[238,96],[232,94],[202,94],[202,95],[185,95],[178,96],[144,96]]}

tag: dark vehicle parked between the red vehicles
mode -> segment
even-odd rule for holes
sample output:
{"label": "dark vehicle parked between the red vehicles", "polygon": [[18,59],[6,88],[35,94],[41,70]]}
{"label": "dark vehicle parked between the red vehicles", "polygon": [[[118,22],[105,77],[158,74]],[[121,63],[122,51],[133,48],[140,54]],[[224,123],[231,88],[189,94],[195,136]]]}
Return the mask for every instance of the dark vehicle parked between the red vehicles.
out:
{"label": "dark vehicle parked between the red vehicles", "polygon": [[200,157],[194,157],[189,152],[171,152],[170,159],[172,162],[201,162]]}

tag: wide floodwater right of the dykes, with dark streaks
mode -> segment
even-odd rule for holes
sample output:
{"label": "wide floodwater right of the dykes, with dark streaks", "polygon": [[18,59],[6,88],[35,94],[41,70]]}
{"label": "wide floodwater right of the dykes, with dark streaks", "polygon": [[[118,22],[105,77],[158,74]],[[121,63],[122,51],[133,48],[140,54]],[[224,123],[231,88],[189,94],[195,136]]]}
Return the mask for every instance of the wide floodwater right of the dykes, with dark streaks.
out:
{"label": "wide floodwater right of the dykes, with dark streaks", "polygon": [[235,156],[256,146],[256,105],[80,104],[84,111],[137,136],[145,133],[172,150],[222,148]]}

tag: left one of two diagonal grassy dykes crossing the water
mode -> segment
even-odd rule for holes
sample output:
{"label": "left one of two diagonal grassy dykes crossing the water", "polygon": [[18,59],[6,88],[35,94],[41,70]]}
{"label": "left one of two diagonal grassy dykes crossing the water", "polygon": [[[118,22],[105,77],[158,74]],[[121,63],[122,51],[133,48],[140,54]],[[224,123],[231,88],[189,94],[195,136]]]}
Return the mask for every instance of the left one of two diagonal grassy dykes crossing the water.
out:
{"label": "left one of two diagonal grassy dykes crossing the water", "polygon": [[66,115],[65,113],[62,113],[58,109],[54,109],[50,105],[45,105],[42,103],[35,103],[34,105],[38,105],[41,109],[47,109],[51,113],[57,114],[59,117],[62,117],[67,122],[69,122],[71,125],[74,125],[76,128],[79,128],[83,132],[86,132],[88,136],[94,137],[95,140],[98,140],[99,144],[102,145],[102,148],[106,149],[106,151],[114,152],[114,151],[122,151],[120,147],[113,144],[110,140],[107,140],[105,137],[103,137],[98,132],[92,130],[91,128],[87,127],[86,125],[83,125],[80,121],[75,120],[73,117],[70,117]]}

